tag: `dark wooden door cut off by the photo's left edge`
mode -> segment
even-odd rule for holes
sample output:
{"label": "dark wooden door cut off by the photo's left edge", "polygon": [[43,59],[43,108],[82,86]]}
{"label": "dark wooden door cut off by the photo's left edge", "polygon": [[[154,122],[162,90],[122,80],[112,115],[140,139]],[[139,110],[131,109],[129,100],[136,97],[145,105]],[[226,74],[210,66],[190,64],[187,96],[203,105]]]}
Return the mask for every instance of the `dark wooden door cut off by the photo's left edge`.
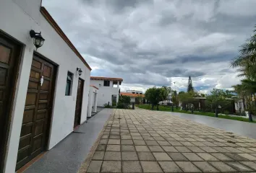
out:
{"label": "dark wooden door cut off by the photo's left edge", "polygon": [[0,33],[0,172],[3,167],[7,134],[20,47]]}

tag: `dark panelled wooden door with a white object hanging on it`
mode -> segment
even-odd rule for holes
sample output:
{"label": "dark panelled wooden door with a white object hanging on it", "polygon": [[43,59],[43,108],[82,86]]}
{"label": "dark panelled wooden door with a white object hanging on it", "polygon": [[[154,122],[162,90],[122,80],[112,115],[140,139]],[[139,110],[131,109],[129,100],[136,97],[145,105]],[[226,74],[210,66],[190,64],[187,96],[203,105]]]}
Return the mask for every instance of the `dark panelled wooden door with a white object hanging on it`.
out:
{"label": "dark panelled wooden door with a white object hanging on it", "polygon": [[[56,67],[34,55],[20,133],[16,169],[46,150]],[[43,80],[42,80],[43,79]]]}

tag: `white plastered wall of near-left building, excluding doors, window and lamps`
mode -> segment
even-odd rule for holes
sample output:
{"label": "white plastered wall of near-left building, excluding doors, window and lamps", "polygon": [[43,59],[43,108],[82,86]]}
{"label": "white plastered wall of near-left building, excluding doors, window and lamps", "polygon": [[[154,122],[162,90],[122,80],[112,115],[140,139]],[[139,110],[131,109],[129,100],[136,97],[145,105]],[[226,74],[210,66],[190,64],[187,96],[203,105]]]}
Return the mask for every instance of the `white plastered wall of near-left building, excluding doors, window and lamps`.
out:
{"label": "white plastered wall of near-left building, excluding doors, window and lamps", "polygon": [[[78,84],[77,67],[82,68],[80,78],[85,80],[81,123],[86,120],[90,70],[82,63],[72,49],[69,48],[67,43],[62,40],[42,14],[40,14],[40,0],[1,0],[0,16],[0,30],[6,32],[24,45],[15,89],[14,107],[12,107],[12,122],[7,143],[7,155],[4,159],[4,172],[13,173],[16,167],[30,67],[33,51],[35,50],[33,39],[29,35],[30,30],[35,30],[35,32],[41,31],[42,36],[46,39],[43,47],[38,48],[38,53],[59,65],[56,76],[48,149],[59,143],[59,141],[73,130]],[[74,74],[72,96],[65,96],[67,71]]]}

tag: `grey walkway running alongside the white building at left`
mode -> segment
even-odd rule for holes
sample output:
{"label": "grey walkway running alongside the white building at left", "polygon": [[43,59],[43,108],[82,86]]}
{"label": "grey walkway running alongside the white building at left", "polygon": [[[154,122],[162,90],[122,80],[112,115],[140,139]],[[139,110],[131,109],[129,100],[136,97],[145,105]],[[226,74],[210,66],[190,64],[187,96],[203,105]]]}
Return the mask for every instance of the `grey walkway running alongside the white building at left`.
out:
{"label": "grey walkway running alongside the white building at left", "polygon": [[111,115],[111,109],[104,109],[80,125],[75,132],[51,148],[40,160],[25,170],[26,173],[68,173],[77,172],[98,138],[103,125]]}

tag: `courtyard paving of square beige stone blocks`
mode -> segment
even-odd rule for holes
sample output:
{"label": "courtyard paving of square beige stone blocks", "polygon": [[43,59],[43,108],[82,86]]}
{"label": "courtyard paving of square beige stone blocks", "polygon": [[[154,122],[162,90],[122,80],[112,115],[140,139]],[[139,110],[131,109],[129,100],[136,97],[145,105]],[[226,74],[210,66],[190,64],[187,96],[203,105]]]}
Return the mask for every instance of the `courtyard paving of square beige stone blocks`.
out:
{"label": "courtyard paving of square beige stone blocks", "polygon": [[87,172],[256,172],[256,140],[150,110],[113,110]]}

